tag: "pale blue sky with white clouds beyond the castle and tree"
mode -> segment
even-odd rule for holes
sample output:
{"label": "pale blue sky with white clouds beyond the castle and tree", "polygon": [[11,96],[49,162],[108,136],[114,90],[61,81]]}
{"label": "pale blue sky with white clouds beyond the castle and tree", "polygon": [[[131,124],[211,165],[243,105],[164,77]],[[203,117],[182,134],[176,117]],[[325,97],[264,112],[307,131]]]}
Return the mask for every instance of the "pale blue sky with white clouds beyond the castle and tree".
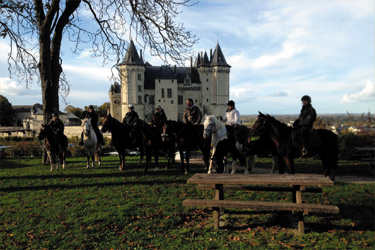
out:
{"label": "pale blue sky with white clouds beyond the castle and tree", "polygon": [[[199,38],[195,54],[220,44],[231,65],[230,99],[241,114],[298,114],[303,95],[318,115],[374,113],[375,1],[200,1],[181,11],[177,21]],[[41,103],[37,83],[27,89],[9,78],[8,51],[0,40],[1,95],[12,105]],[[68,104],[108,102],[112,65],[89,48],[70,51],[63,46]],[[147,49],[144,59],[163,64]]]}

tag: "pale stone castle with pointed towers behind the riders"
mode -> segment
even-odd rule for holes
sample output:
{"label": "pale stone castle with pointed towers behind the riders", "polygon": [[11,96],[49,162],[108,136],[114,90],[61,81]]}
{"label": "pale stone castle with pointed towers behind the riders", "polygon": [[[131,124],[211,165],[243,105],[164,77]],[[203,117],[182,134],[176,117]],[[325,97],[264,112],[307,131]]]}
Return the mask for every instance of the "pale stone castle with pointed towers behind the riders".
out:
{"label": "pale stone castle with pointed towers behind the riders", "polygon": [[149,121],[161,106],[168,119],[182,120],[186,99],[192,98],[204,114],[223,116],[229,100],[230,65],[219,44],[214,52],[198,53],[190,67],[152,66],[144,63],[133,41],[119,65],[120,84],[109,89],[110,112],[122,121],[128,105],[141,119]]}

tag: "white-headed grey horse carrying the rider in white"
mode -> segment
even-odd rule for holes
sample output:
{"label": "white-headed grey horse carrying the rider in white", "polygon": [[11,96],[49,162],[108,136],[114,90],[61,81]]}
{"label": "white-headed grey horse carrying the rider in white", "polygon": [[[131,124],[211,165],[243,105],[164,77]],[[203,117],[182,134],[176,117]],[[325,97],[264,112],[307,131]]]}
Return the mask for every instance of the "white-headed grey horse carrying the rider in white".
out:
{"label": "white-headed grey horse carrying the rider in white", "polygon": [[[218,166],[217,172],[222,173],[224,170],[224,157],[231,153],[233,157],[232,163],[232,174],[236,173],[236,160],[239,159],[241,167],[244,170],[245,174],[249,173],[249,170],[246,167],[244,157],[241,156],[240,152],[236,147],[236,141],[234,139],[229,139],[227,136],[227,129],[223,122],[216,119],[213,115],[208,115],[204,119],[204,138],[211,137],[211,144],[213,145],[213,159]],[[226,164],[225,164],[226,165]],[[212,161],[210,163],[210,168],[208,173],[212,172]],[[227,169],[225,168],[225,172]]]}

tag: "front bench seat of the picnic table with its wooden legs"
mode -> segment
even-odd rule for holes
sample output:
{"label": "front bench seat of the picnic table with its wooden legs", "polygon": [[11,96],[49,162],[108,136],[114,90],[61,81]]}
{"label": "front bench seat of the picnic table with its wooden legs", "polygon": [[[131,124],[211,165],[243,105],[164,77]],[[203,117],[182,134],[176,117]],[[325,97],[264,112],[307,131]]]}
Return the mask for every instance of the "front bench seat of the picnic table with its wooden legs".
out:
{"label": "front bench seat of the picnic table with its wooden legs", "polygon": [[185,207],[208,207],[214,209],[214,228],[219,229],[220,208],[254,209],[265,211],[296,211],[298,212],[298,232],[305,231],[304,215],[308,213],[338,214],[337,206],[315,205],[306,203],[281,203],[263,201],[233,201],[233,200],[194,200],[186,199],[182,202]]}

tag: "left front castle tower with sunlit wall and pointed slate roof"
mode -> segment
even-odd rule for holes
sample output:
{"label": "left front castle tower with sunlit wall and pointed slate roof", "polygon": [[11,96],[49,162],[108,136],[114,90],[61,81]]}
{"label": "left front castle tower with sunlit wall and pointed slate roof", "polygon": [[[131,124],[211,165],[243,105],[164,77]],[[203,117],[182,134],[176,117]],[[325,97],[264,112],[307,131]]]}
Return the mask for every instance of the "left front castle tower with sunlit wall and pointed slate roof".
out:
{"label": "left front castle tower with sunlit wall and pointed slate roof", "polygon": [[[121,116],[128,112],[129,104],[134,105],[139,117],[145,115],[145,64],[135,48],[133,41],[130,41],[128,50],[122,63],[119,64],[121,81]],[[121,119],[122,119],[121,118]]]}

